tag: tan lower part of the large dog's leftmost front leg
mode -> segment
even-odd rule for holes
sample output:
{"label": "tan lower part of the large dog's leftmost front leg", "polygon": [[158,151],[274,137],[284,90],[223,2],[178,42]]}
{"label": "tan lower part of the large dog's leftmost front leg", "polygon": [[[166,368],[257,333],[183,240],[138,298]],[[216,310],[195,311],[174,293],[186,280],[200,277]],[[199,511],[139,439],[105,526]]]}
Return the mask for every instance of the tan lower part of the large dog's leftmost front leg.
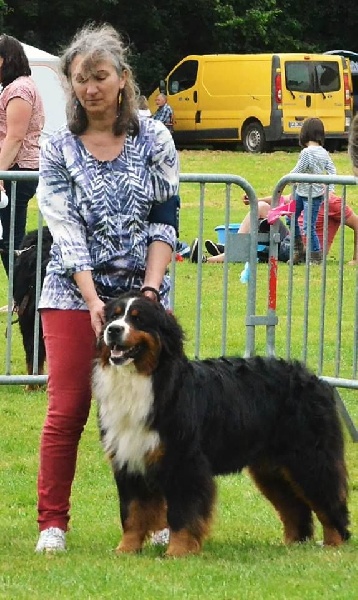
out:
{"label": "tan lower part of the large dog's leftmost front leg", "polygon": [[166,525],[166,503],[162,498],[155,498],[148,502],[138,500],[131,502],[128,517],[123,524],[123,537],[116,548],[116,553],[138,552],[150,532],[164,529]]}

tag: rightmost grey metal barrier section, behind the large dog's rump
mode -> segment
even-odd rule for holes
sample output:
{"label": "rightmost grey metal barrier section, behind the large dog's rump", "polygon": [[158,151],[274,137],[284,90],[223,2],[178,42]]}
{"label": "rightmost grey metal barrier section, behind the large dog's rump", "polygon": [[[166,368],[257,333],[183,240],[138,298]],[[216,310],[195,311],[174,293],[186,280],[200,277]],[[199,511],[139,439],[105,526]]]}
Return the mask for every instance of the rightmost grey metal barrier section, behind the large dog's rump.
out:
{"label": "rightmost grey metal barrier section, behind the large dog's rump", "polygon": [[[282,190],[287,184],[307,182],[307,183],[333,183],[336,186],[342,186],[342,204],[340,222],[344,223],[345,208],[347,205],[347,187],[356,186],[357,180],[351,176],[313,176],[313,175],[291,175],[283,177],[276,185],[273,192],[273,207],[277,205],[277,199]],[[312,219],[312,206],[309,204],[308,210],[308,226],[310,231],[310,223]],[[358,431],[355,424],[346,409],[346,406],[338,393],[338,388],[357,390],[357,346],[358,346],[358,269],[357,267],[348,266],[347,257],[345,256],[345,227],[341,226],[339,230],[339,239],[336,244],[337,261],[336,264],[329,264],[327,249],[328,249],[328,219],[329,219],[329,197],[328,190],[324,199],[324,236],[323,236],[323,261],[317,271],[316,266],[311,266],[308,258],[304,266],[302,278],[304,279],[304,296],[301,298],[301,308],[297,311],[294,309],[294,273],[300,267],[293,267],[292,254],[293,244],[290,248],[290,269],[287,277],[286,287],[286,335],[285,335],[285,352],[281,352],[282,356],[290,358],[292,356],[300,358],[303,362],[313,366],[313,356],[310,348],[314,347],[315,352],[315,372],[319,377],[330,383],[335,390],[336,402],[340,410],[341,416],[347,426],[353,441],[358,441]],[[277,231],[278,225],[272,226],[272,235]],[[294,221],[291,222],[291,237],[294,228]],[[356,237],[357,236],[357,237]],[[306,250],[309,257],[311,249],[311,237],[307,235]],[[358,232],[354,233],[354,242],[356,244],[356,252],[358,250]],[[351,257],[349,257],[351,258]],[[358,259],[358,256],[356,256]],[[277,267],[277,245],[270,244],[269,257],[269,281],[276,281]],[[318,285],[317,285],[318,283]],[[310,319],[312,310],[312,290],[318,291],[316,307],[318,308],[318,321]],[[297,300],[297,298],[296,298]],[[267,305],[268,313],[273,312],[277,315],[276,306]],[[300,314],[301,313],[301,314]],[[330,322],[328,322],[327,313],[335,315],[335,331],[330,331]],[[302,324],[302,343],[300,352],[292,346],[292,331],[295,327],[297,314],[301,316]],[[282,323],[283,325],[283,323]],[[311,331],[310,331],[311,330]],[[311,335],[310,335],[311,333]],[[269,326],[267,331],[267,353],[277,351],[275,336],[277,331],[274,327]],[[314,344],[312,344],[313,338]],[[326,366],[327,365],[327,366]],[[330,374],[328,374],[330,373]]]}

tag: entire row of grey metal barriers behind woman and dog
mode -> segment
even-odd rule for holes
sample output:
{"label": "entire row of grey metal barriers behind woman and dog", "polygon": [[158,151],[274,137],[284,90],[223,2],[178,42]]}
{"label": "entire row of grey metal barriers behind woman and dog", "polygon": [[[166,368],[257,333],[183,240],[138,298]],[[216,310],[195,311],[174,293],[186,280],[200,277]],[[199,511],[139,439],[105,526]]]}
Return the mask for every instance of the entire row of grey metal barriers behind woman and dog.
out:
{"label": "entire row of grey metal barriers behind woman and dog", "polygon": [[[15,218],[16,181],[22,178],[35,178],[32,172],[0,172],[0,179],[11,179],[11,219]],[[343,420],[354,441],[358,441],[358,431],[350,417],[338,388],[356,390],[357,381],[357,341],[358,341],[358,269],[344,265],[345,228],[340,227],[335,243],[337,260],[327,260],[324,255],[320,267],[313,267],[309,260],[304,265],[293,266],[292,244],[291,262],[278,265],[279,232],[278,223],[270,227],[269,234],[259,234],[258,201],[254,188],[240,176],[224,174],[187,174],[180,176],[181,196],[194,197],[197,211],[195,235],[198,237],[198,254],[204,249],[204,230],[207,222],[207,196],[215,190],[218,218],[221,216],[225,237],[225,260],[220,268],[222,279],[217,284],[212,268],[202,263],[186,263],[182,266],[172,262],[171,304],[184,326],[188,336],[188,352],[200,357],[202,340],[205,338],[206,352],[210,355],[256,353],[277,354],[286,358],[299,358],[307,363],[322,379],[335,388],[337,404]],[[277,206],[281,190],[285,185],[299,181],[334,183],[342,186],[342,222],[346,206],[347,188],[356,186],[354,177],[328,177],[308,175],[286,175],[273,191],[272,207]],[[198,190],[198,194],[197,194]],[[217,190],[219,190],[217,192]],[[242,192],[248,196],[250,204],[250,234],[231,233],[230,223],[238,207],[241,207]],[[219,194],[222,198],[217,200]],[[190,206],[192,201],[190,202]],[[185,206],[185,204],[184,204]],[[192,210],[192,207],[190,208]],[[242,211],[241,211],[242,212]],[[1,213],[0,213],[1,216]],[[185,208],[182,210],[184,223]],[[312,218],[309,211],[308,221]],[[325,198],[325,229],[328,223],[328,196]],[[291,231],[294,226],[291,222]],[[42,219],[38,215],[39,247],[37,253],[38,277],[36,283],[37,300],[40,294],[41,232]],[[12,228],[13,229],[13,228]],[[182,225],[185,230],[185,226]],[[309,230],[309,227],[308,227]],[[189,240],[190,241],[190,240]],[[8,306],[12,306],[13,235],[10,239],[10,278],[8,286]],[[268,264],[258,264],[257,247],[260,242],[269,245]],[[337,243],[338,242],[338,243]],[[308,251],[311,247],[307,236]],[[324,237],[324,249],[327,235]],[[239,283],[243,263],[248,262],[250,277],[247,286]],[[215,268],[215,267],[214,267]],[[300,282],[300,285],[298,285]],[[297,286],[295,285],[297,284]],[[216,286],[213,289],[214,284]],[[297,297],[296,287],[302,290]],[[346,302],[349,300],[349,302]],[[195,323],[186,318],[185,304],[195,301]],[[327,304],[329,302],[329,307]],[[220,305],[220,306],[219,306]],[[353,305],[353,309],[352,309]],[[348,309],[347,306],[350,308]],[[327,319],[335,311],[336,327],[332,331],[331,320]],[[350,314],[347,314],[347,310]],[[352,314],[353,313],[353,314]],[[329,321],[329,322],[328,322]],[[5,372],[1,374],[1,384],[44,384],[46,376],[38,374],[39,317],[35,321],[35,360],[33,374],[12,373],[12,348],[18,344],[18,332],[12,329],[12,315],[9,310],[5,318],[7,338],[5,344]],[[2,322],[0,321],[2,324]],[[327,327],[329,331],[327,331]],[[297,331],[302,330],[302,338],[297,341]],[[244,334],[243,334],[244,332]],[[293,335],[295,333],[295,335]],[[344,344],[343,344],[344,341]],[[208,343],[209,342],[209,343]],[[219,343],[219,347],[218,347]],[[18,368],[16,369],[18,370]]]}

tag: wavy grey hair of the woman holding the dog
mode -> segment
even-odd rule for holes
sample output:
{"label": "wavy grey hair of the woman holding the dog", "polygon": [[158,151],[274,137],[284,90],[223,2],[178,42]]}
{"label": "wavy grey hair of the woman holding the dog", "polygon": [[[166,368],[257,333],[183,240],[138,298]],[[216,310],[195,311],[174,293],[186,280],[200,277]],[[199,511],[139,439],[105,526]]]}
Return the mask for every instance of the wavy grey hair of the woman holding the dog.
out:
{"label": "wavy grey hair of the woman holding the dog", "polygon": [[127,73],[125,86],[119,100],[117,119],[113,124],[115,135],[138,132],[137,96],[138,87],[133,72],[128,64],[128,48],[124,45],[120,34],[108,24],[97,26],[90,24],[80,29],[71,44],[65,49],[60,61],[60,68],[66,78],[67,122],[72,133],[80,135],[88,125],[86,111],[81,106],[71,84],[71,65],[78,55],[86,57],[90,67],[101,60],[110,61],[118,75]]}

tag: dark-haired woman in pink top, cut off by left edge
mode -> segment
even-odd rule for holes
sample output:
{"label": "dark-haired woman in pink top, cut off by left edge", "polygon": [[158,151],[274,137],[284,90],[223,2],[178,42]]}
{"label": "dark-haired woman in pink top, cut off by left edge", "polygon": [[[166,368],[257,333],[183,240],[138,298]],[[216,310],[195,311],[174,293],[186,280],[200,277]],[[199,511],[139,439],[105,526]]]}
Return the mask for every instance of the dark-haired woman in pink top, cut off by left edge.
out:
{"label": "dark-haired woman in pink top, cut off by left edge", "polygon": [[[14,37],[0,35],[0,171],[38,171],[39,140],[45,115],[41,96],[31,78],[29,61],[22,44]],[[26,230],[27,205],[35,194],[37,182],[18,181],[16,186],[15,250]],[[0,181],[0,190],[11,197],[11,181]],[[9,272],[9,201],[3,209],[1,259]]]}

